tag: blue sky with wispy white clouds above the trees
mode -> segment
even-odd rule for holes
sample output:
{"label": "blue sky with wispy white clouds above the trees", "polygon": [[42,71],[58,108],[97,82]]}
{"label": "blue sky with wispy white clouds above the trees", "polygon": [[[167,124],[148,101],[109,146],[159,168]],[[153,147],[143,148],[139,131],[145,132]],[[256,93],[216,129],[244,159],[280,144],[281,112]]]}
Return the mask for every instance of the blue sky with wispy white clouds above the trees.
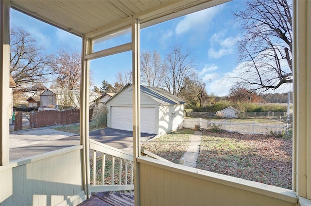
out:
{"label": "blue sky with wispy white clouds above the trees", "polygon": [[[194,59],[194,68],[207,83],[207,93],[227,95],[232,83],[223,77],[236,72],[238,55],[235,42],[242,36],[230,11],[237,4],[241,4],[241,1],[231,1],[144,28],[140,34],[141,51],[155,49],[165,58],[173,46],[189,48]],[[14,26],[30,32],[37,44],[46,48],[49,53],[56,52],[61,47],[81,51],[80,37],[11,10],[11,27]],[[130,40],[130,35],[124,36]],[[119,45],[121,40],[114,39],[104,44],[112,47]],[[92,81],[98,87],[104,79],[113,84],[118,71],[129,71],[131,68],[131,52],[93,60]]]}

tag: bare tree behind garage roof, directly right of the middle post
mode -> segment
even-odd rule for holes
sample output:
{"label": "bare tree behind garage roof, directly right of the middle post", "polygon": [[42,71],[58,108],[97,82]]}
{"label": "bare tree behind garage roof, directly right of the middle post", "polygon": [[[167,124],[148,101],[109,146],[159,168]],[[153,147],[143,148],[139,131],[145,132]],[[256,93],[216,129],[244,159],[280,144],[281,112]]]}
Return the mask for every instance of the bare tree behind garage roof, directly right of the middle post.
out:
{"label": "bare tree behind garage roof, directly right of the middle post", "polygon": [[160,54],[154,50],[142,52],[140,55],[140,80],[141,84],[159,87],[165,75],[164,64],[161,61]]}

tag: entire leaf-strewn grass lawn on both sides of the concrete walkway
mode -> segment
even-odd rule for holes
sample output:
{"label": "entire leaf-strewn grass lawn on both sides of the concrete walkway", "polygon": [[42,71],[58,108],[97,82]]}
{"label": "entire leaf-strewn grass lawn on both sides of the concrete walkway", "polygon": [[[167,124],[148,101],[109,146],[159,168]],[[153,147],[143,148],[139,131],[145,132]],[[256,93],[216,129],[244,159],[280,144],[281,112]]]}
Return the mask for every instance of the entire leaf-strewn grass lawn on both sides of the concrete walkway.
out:
{"label": "entire leaf-strewn grass lawn on both sides of the concrete walkway", "polygon": [[[79,126],[54,129],[79,133]],[[94,129],[98,128],[90,125],[90,130]],[[183,128],[153,141],[141,143],[141,148],[179,164],[193,132],[192,129]],[[292,139],[289,138],[203,131],[197,168],[291,189],[292,147]],[[117,161],[116,159],[116,168]],[[101,164],[100,161],[98,163]],[[111,159],[107,157],[106,163],[105,182],[111,184]],[[100,174],[101,165],[97,165],[96,171]],[[122,173],[124,172],[123,168]],[[118,173],[119,171],[115,173],[116,179]],[[97,177],[99,184],[101,177]]]}

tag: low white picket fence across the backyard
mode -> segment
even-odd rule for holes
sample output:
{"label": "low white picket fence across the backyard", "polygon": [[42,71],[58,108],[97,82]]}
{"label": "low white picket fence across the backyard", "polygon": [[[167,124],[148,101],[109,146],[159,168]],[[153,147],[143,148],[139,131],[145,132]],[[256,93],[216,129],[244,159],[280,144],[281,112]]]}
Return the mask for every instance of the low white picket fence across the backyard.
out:
{"label": "low white picket fence across the backyard", "polygon": [[245,134],[283,134],[287,131],[286,124],[261,124],[257,122],[231,122],[229,120],[207,120],[207,119],[184,119],[184,128],[219,128],[229,132],[240,132]]}

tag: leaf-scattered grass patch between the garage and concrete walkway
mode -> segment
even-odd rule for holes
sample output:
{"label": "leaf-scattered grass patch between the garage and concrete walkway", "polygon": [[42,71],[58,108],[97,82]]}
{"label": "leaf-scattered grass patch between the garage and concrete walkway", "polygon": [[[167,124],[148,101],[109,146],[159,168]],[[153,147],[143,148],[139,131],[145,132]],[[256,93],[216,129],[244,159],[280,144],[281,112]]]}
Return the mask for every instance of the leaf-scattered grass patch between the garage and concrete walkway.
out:
{"label": "leaf-scattered grass patch between the garage and concrete walkway", "polygon": [[180,129],[163,135],[153,141],[141,143],[141,148],[146,149],[155,155],[179,164],[179,159],[183,157],[189,146],[192,129]]}

